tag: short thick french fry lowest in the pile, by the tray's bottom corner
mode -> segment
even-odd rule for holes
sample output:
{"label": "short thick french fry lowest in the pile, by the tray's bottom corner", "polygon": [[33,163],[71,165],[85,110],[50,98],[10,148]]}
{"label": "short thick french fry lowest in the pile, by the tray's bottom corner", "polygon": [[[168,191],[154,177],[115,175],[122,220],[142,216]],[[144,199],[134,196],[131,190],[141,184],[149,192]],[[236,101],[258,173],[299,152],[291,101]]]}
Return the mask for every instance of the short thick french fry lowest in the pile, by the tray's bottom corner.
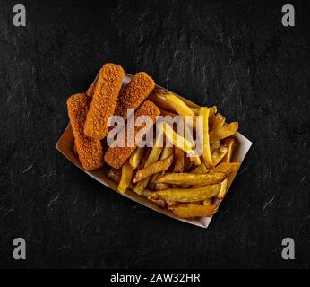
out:
{"label": "short thick french fry lowest in the pile, by the tray's bottom corner", "polygon": [[198,205],[198,204],[180,204],[170,207],[172,213],[183,218],[194,217],[210,217],[218,211],[218,206],[211,205]]}

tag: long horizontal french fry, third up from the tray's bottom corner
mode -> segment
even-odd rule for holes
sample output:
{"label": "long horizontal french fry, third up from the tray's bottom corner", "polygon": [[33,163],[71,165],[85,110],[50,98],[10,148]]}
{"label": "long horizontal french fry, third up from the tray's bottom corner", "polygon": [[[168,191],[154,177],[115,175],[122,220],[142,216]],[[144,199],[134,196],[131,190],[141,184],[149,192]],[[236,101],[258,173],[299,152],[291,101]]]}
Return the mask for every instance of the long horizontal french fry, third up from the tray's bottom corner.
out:
{"label": "long horizontal french fry, third up from the tray's bottom corner", "polygon": [[227,175],[222,172],[194,174],[194,173],[166,173],[156,182],[164,182],[171,185],[195,185],[206,186],[219,183]]}

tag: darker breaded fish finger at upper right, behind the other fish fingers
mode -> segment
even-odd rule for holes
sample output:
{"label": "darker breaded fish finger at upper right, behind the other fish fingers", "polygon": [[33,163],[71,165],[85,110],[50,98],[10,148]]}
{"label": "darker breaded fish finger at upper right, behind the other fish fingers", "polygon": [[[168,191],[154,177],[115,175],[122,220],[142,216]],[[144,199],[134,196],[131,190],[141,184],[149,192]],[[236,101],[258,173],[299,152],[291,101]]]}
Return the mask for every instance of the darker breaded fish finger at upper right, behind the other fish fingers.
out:
{"label": "darker breaded fish finger at upper right, behind the other fish fingers", "polygon": [[151,76],[144,72],[135,74],[118,97],[115,115],[125,118],[127,109],[138,108],[154,88],[155,83]]}

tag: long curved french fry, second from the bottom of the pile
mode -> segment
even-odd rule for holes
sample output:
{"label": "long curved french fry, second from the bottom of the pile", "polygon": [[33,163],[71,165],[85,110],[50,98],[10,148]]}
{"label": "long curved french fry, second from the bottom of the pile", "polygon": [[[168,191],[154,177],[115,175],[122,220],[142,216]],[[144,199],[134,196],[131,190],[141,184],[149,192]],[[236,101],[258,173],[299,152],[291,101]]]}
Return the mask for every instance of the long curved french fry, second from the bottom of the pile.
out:
{"label": "long curved french fry, second from the bottom of the pile", "polygon": [[202,201],[206,198],[216,196],[220,191],[220,184],[194,188],[168,188],[160,191],[147,192],[146,196],[159,196],[164,200],[173,200],[180,203]]}

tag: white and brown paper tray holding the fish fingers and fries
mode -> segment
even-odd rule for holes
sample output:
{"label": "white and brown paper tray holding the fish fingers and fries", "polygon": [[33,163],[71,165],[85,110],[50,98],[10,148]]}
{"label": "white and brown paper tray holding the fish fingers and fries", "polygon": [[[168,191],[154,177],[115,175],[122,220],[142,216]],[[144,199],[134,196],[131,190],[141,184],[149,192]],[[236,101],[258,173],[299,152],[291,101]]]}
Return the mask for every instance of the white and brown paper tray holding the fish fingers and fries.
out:
{"label": "white and brown paper tray holding the fish fingers and fries", "polygon": [[[131,75],[131,74],[125,74],[125,78],[123,80],[123,88],[127,83],[130,82],[132,77],[133,77],[133,75]],[[180,96],[178,96],[178,97],[182,100],[185,100],[185,102],[188,105],[190,105],[192,107],[197,107],[197,105],[194,104],[193,102],[191,102],[190,100],[186,100],[185,98],[180,97]],[[240,166],[241,166],[242,161],[245,159],[245,155],[248,152],[248,150],[250,149],[252,143],[247,138],[245,138],[244,135],[241,135],[240,133],[237,133],[235,135],[235,138],[237,139],[237,146],[236,146],[236,149],[234,151],[232,161],[240,162]],[[56,144],[56,149],[59,152],[63,153],[69,161],[71,161],[74,165],[76,165],[83,172],[87,173],[91,178],[95,178],[101,184],[103,184],[106,187],[109,187],[112,190],[117,192],[116,183],[114,183],[113,181],[109,180],[106,177],[103,169],[90,170],[90,171],[86,171],[86,170],[82,169],[82,166],[81,166],[79,159],[73,154],[73,141],[74,141],[73,131],[72,131],[71,125],[69,123],[69,125],[65,129],[64,134],[61,135],[61,137],[59,138],[58,143]],[[229,177],[228,177],[228,189],[229,189],[231,183],[233,182],[234,178],[236,177],[236,175],[237,175],[237,172],[233,172],[229,175]],[[173,213],[169,212],[168,210],[159,208],[159,206],[157,206],[156,204],[151,203],[151,201],[147,200],[145,197],[139,196],[131,190],[127,190],[124,194],[120,194],[120,193],[118,193],[118,194],[119,194],[119,196],[125,196],[125,197],[130,198],[131,200],[139,203],[139,204],[142,204],[146,207],[149,207],[152,210],[157,211],[158,213],[165,214],[169,217],[177,219],[178,221],[187,222],[187,223],[190,223],[190,224],[202,227],[202,228],[207,228],[211,222],[211,219],[212,219],[212,217],[202,217],[202,218],[194,219],[194,220],[179,218],[176,215],[174,215]],[[217,204],[220,204],[220,201],[218,201]]]}

